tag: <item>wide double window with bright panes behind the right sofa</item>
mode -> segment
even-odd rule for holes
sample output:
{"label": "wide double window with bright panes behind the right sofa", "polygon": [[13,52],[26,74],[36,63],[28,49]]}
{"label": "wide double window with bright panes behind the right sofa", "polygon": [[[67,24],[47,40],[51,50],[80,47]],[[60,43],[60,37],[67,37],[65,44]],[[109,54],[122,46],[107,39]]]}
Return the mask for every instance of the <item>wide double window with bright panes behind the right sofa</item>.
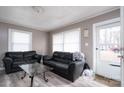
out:
{"label": "wide double window with bright panes behind the right sofa", "polygon": [[80,29],[53,34],[53,52],[54,51],[79,52]]}

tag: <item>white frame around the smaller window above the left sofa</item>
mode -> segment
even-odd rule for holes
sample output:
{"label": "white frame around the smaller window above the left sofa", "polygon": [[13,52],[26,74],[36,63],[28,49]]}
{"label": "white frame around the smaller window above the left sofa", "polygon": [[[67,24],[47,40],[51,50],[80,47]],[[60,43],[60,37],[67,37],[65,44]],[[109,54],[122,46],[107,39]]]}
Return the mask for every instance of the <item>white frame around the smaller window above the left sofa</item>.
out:
{"label": "white frame around the smaller window above the left sofa", "polygon": [[32,50],[32,32],[9,28],[8,29],[8,51],[12,51],[12,32],[13,31],[30,34],[30,48],[29,48],[29,50]]}

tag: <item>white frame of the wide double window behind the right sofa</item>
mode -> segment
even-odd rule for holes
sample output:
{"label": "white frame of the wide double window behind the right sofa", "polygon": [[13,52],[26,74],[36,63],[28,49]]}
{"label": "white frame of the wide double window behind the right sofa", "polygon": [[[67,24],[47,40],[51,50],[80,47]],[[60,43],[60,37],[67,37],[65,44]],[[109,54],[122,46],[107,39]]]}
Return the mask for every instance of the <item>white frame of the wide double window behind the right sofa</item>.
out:
{"label": "white frame of the wide double window behind the right sofa", "polygon": [[[64,39],[64,32],[71,32],[71,31],[79,31],[79,52],[81,52],[81,29],[80,28],[74,28],[74,29],[70,29],[70,30],[66,30],[66,31],[63,31],[63,32],[58,32],[58,33],[62,33],[63,34],[63,39]],[[57,34],[57,33],[54,33],[54,34]],[[53,51],[53,35],[52,35],[52,52]],[[63,52],[64,52],[64,40],[63,40]]]}

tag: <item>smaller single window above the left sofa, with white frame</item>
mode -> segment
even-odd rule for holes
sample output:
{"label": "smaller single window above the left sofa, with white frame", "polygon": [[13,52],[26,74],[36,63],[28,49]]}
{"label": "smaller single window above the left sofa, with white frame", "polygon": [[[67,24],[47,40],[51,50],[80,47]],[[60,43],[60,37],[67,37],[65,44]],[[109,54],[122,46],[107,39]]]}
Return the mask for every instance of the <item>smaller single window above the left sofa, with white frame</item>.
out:
{"label": "smaller single window above the left sofa, with white frame", "polygon": [[9,29],[9,51],[29,51],[32,49],[32,33]]}

